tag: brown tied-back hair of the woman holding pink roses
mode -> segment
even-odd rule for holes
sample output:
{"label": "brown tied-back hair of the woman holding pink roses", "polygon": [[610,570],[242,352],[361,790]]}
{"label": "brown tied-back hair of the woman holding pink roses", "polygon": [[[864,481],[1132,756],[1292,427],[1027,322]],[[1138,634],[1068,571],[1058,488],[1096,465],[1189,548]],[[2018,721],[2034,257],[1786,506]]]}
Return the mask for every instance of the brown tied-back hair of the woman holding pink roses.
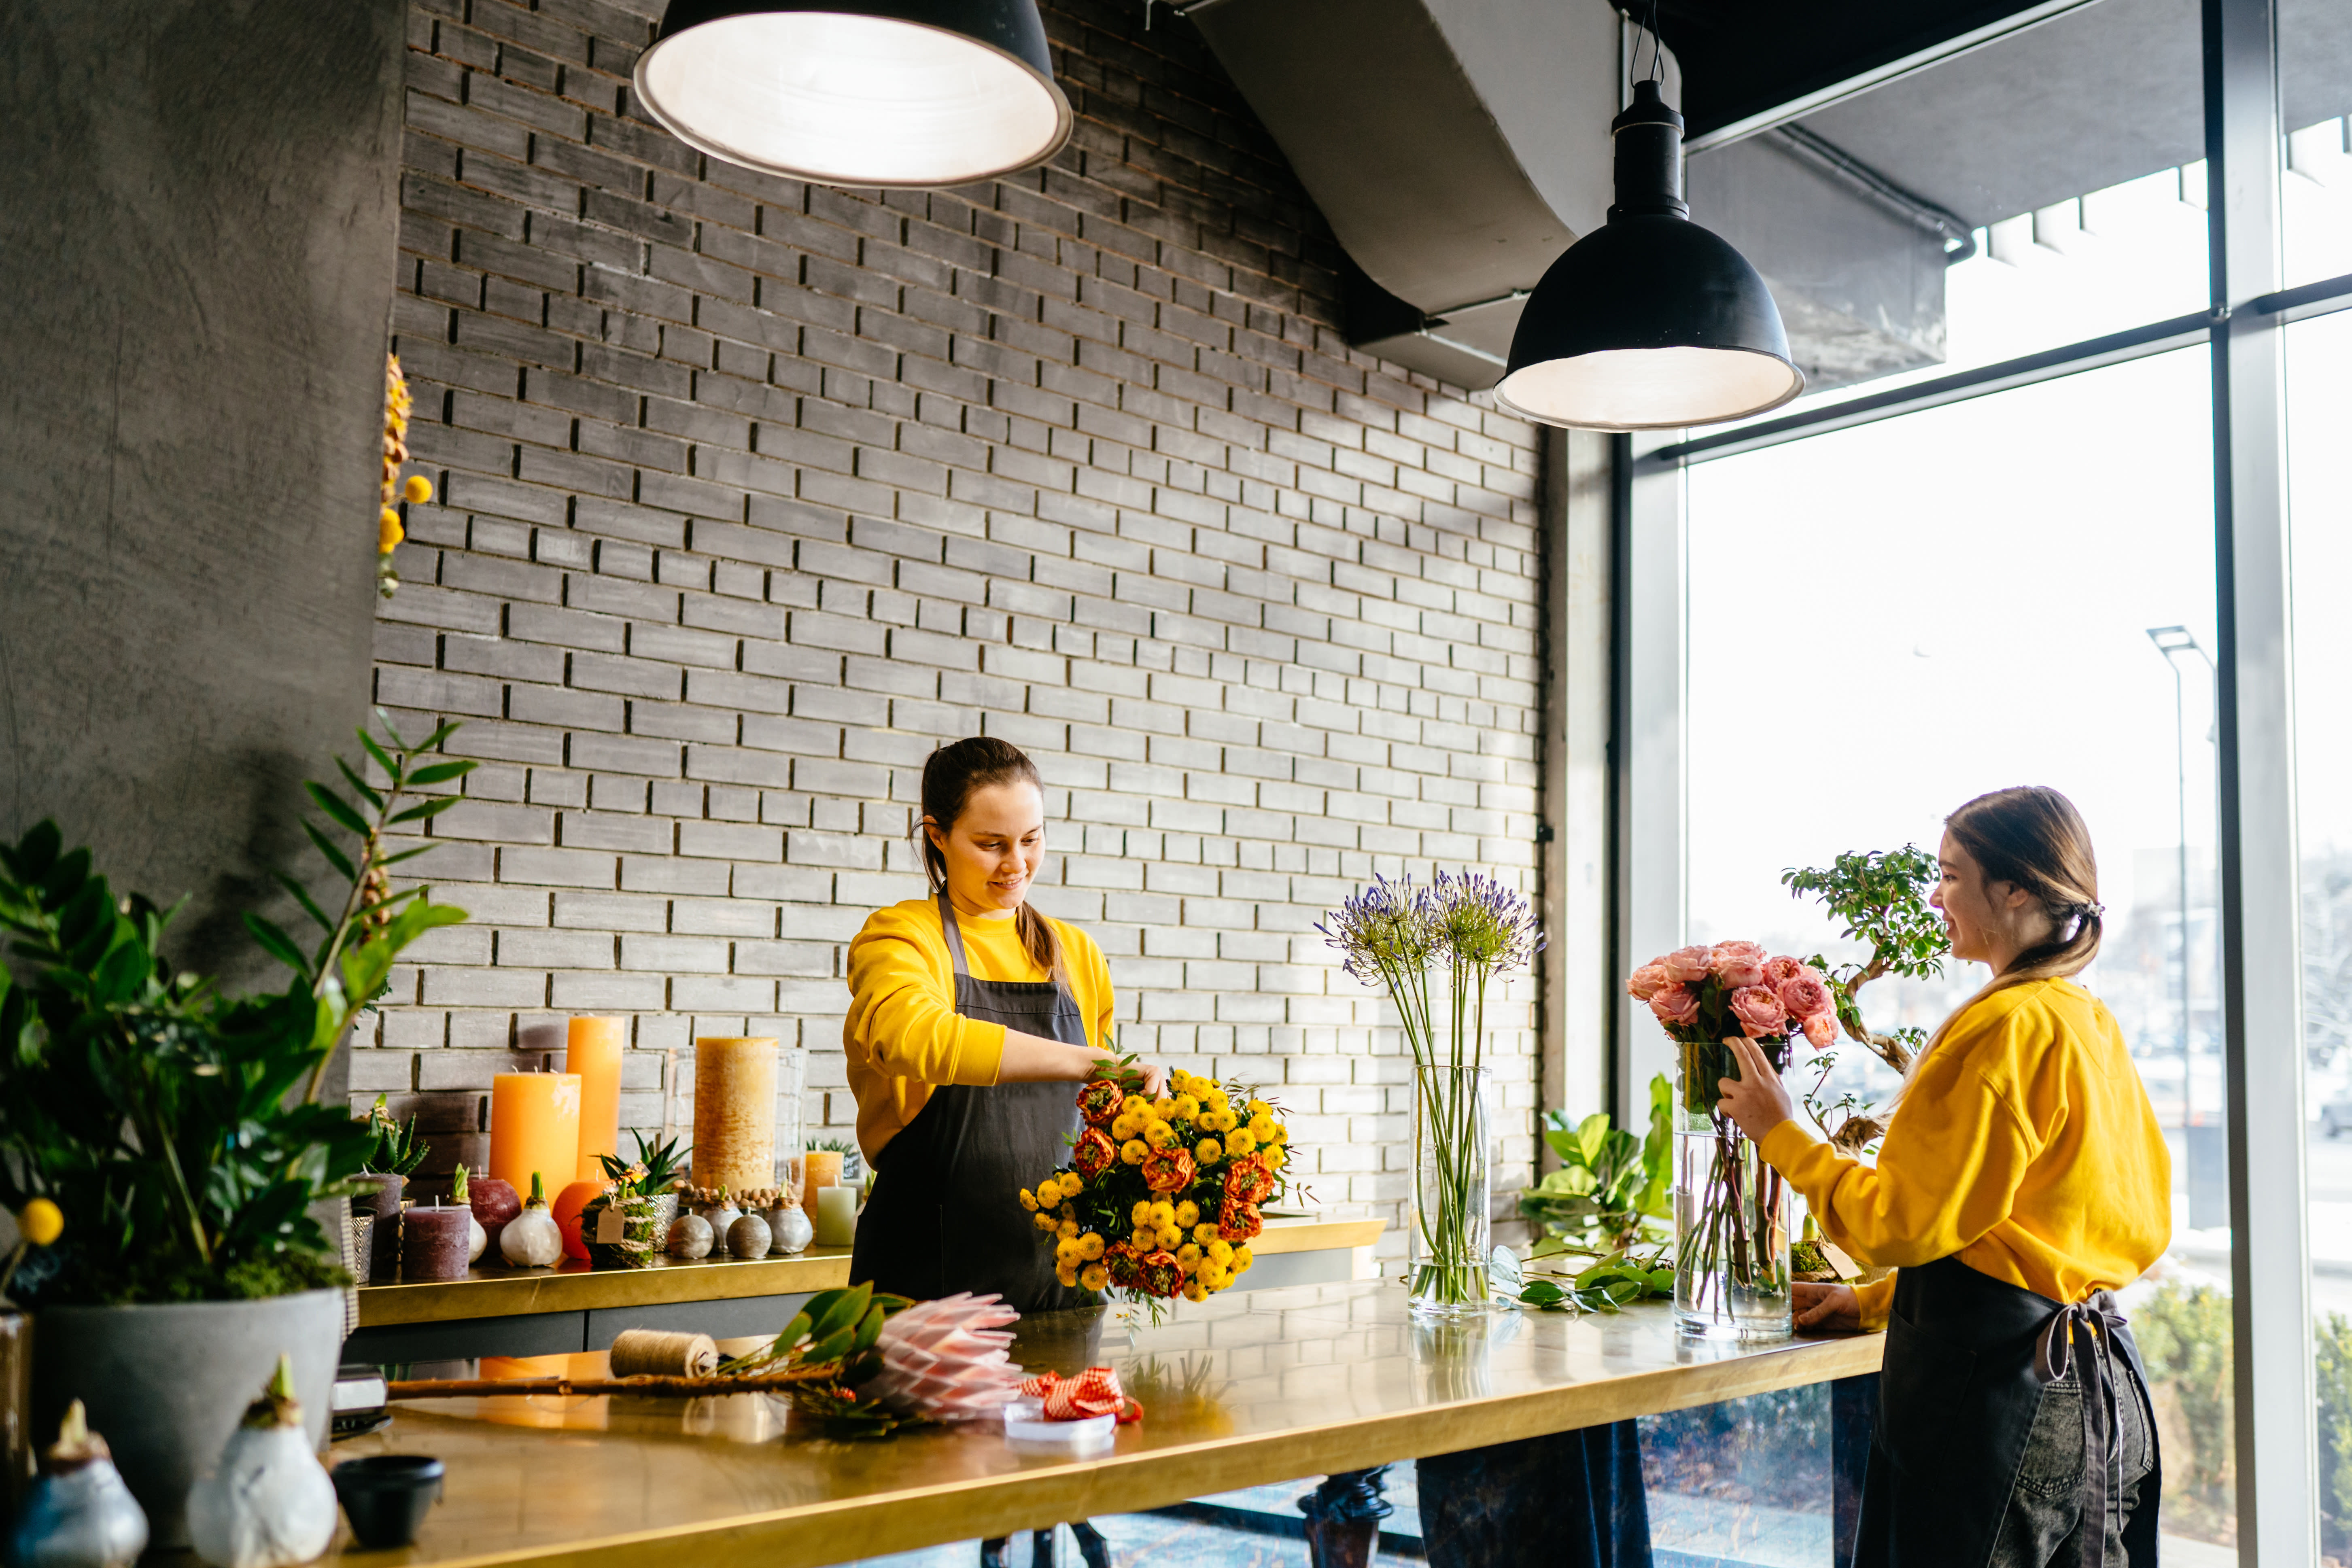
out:
{"label": "brown tied-back hair of the woman holding pink roses", "polygon": [[[1962,1013],[1992,992],[2027,980],[2058,980],[2079,973],[2098,957],[2105,910],[2098,903],[2098,858],[2091,853],[2091,830],[2082,813],[2049,785],[2018,785],[1978,795],[1943,818],[1945,832],[1969,851],[1985,884],[2006,882],[2025,889],[2051,919],[2046,943],[2027,947],[1992,976],[1983,990],[1952,1009],[1919,1058],[1936,1048]],[[1912,1063],[1917,1067],[1919,1063]]]}

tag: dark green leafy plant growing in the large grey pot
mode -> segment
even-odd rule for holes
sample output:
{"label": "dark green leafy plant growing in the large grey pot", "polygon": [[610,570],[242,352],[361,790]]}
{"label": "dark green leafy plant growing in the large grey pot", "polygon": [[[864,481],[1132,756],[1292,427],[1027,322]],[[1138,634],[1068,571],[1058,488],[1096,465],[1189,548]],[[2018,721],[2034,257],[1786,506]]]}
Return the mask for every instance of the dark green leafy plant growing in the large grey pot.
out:
{"label": "dark green leafy plant growing in the large grey pot", "polygon": [[16,1274],[21,1300],[240,1300],[343,1284],[341,1246],[308,1206],[350,1190],[376,1131],[318,1105],[318,1084],[355,1013],[383,994],[395,954],[466,919],[426,889],[393,893],[388,867],[423,851],[386,851],[386,830],[456,804],[405,804],[473,766],[419,764],[452,729],[414,748],[390,722],[383,741],[362,729],[383,783],[339,762],[355,799],[308,785],[355,842],[303,823],[348,882],[332,917],[280,875],[322,931],[315,947],[245,917],[294,971],[285,992],[223,997],[183,973],[165,954],[176,905],[115,893],[56,823],[0,844],[12,959],[0,969],[0,1201],[49,1199],[64,1213],[61,1244]]}

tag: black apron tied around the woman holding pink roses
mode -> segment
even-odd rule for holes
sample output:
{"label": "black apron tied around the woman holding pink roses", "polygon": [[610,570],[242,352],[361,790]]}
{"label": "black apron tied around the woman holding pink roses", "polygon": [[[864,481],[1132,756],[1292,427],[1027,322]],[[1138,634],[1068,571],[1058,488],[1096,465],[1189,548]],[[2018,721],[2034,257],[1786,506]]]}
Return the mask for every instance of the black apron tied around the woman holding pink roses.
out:
{"label": "black apron tied around the woman holding pink roses", "polygon": [[[1938,1258],[1896,1274],[1879,1422],[1863,1479],[1856,1568],[1980,1568],[2025,1460],[2044,1385],[2082,1382],[2082,1568],[2100,1563],[2100,1519],[2122,1490],[2114,1401],[2147,1399],[2147,1368],[2105,1291],[2072,1307]],[[2154,1446],[2154,1427],[2147,1432]],[[2157,1561],[2161,1455],[2124,1521],[2131,1568]],[[2072,1563],[2067,1566],[2072,1568]]]}

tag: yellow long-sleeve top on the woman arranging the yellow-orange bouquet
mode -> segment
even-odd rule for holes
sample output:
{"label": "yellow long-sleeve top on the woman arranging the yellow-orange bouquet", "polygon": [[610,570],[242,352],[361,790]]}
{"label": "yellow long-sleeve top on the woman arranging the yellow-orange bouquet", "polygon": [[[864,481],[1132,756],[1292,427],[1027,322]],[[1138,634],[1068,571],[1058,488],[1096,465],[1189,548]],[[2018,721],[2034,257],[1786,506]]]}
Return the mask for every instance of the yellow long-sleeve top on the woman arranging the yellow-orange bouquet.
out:
{"label": "yellow long-sleeve top on the woman arranging the yellow-orange bouquet", "polygon": [[[1087,1044],[1110,1039],[1110,964],[1094,938],[1051,914],[1070,994],[1087,1020]],[[1051,980],[1037,969],[1011,919],[960,914],[964,964],[976,980]],[[849,1093],[858,1098],[858,1147],[882,1152],[906,1128],[934,1084],[995,1084],[1004,1025],[955,1011],[955,961],[938,905],[910,898],[866,917],[849,943],[849,1016],[842,1020]]]}

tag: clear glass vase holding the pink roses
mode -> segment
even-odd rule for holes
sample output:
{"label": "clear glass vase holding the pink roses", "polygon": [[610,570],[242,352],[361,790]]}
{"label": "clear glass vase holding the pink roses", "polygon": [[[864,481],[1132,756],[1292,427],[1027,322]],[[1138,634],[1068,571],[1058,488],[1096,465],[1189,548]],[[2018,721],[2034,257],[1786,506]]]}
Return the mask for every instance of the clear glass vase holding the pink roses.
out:
{"label": "clear glass vase holding the pink roses", "polygon": [[1675,1084],[1675,1326],[1708,1340],[1785,1340],[1788,1182],[1722,1112],[1731,1046],[1684,1044]]}

